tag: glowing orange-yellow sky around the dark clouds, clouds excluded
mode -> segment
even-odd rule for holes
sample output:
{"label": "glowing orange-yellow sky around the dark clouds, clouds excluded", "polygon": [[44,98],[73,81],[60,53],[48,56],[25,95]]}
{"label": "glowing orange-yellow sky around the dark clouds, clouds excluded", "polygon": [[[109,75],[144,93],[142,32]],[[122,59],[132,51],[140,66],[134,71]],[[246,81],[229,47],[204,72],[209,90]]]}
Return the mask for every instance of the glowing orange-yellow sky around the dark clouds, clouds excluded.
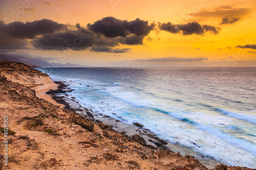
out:
{"label": "glowing orange-yellow sky around the dark clouds, clouds excluded", "polygon": [[[24,3],[21,3],[24,2]],[[87,28],[107,16],[132,21],[136,18],[154,22],[156,27],[143,38],[143,44],[119,44],[115,48],[131,48],[125,53],[93,52],[90,49],[70,51],[65,58],[58,50],[42,50],[30,44],[26,49],[6,53],[25,53],[32,57],[50,57],[52,62],[91,66],[136,66],[138,59],[146,58],[145,66],[256,66],[256,49],[235,47],[256,44],[255,1],[134,1],[134,0],[64,0],[64,1],[0,1],[0,19],[5,24],[13,21],[32,22],[51,19],[58,23]],[[26,10],[24,10],[26,9]],[[18,13],[19,12],[19,13]],[[15,15],[16,14],[16,15]],[[227,22],[220,24],[223,18]],[[218,34],[183,35],[161,30],[158,22],[185,25],[198,22],[220,28]],[[40,37],[40,35],[38,35]],[[27,39],[31,41],[31,39]],[[3,49],[1,52],[4,53]],[[153,58],[207,58],[203,61],[152,62]],[[144,59],[145,60],[145,59]],[[140,65],[140,64],[139,64]]]}

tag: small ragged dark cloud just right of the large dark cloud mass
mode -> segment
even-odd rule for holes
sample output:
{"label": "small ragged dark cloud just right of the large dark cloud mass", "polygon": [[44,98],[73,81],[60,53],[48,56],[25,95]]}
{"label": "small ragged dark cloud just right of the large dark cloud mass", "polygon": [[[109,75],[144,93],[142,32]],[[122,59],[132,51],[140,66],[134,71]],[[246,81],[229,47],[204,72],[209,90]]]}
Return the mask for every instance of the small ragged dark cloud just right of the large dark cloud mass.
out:
{"label": "small ragged dark cloud just right of the large dark cloud mass", "polygon": [[191,34],[203,35],[205,32],[218,34],[220,30],[220,28],[216,28],[214,26],[208,26],[208,25],[201,26],[198,22],[188,22],[183,25],[173,25],[171,22],[167,22],[167,23],[159,22],[158,25],[160,30],[164,30],[174,34],[182,31],[183,35],[191,35]]}

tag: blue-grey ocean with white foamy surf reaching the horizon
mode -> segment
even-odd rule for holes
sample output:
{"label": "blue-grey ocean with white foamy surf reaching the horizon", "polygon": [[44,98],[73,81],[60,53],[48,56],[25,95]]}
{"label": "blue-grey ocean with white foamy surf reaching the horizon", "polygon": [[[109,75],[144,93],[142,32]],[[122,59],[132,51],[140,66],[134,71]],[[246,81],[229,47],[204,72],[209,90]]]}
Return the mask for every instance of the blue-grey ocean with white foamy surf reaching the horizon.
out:
{"label": "blue-grey ocean with white foamy surf reaching the horizon", "polygon": [[256,68],[37,69],[82,107],[138,122],[182,155],[256,168]]}

